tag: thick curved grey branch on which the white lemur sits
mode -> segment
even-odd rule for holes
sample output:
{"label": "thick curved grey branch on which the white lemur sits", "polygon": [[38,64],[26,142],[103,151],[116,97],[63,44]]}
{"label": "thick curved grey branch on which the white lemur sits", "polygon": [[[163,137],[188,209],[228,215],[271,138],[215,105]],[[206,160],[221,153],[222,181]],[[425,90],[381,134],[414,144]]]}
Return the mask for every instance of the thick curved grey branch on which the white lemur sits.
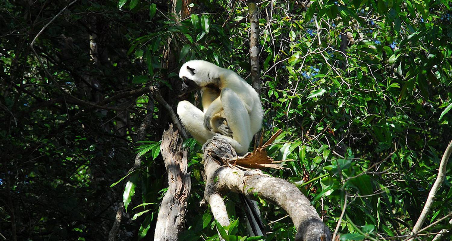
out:
{"label": "thick curved grey branch on which the white lemur sits", "polygon": [[297,227],[296,241],[330,241],[331,233],[311,206],[309,200],[293,184],[263,174],[258,170],[243,171],[221,166],[237,158],[231,145],[221,138],[213,138],[204,151],[207,176],[205,200],[213,194],[235,192],[255,199],[265,198],[286,210]]}

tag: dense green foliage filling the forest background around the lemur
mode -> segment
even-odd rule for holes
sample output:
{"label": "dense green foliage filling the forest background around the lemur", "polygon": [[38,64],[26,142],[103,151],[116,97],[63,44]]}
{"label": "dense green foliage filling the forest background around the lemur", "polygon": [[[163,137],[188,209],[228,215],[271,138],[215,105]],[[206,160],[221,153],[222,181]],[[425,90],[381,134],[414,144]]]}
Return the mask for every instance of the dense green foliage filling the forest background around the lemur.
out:
{"label": "dense green foliage filling the forest background around the lemur", "polygon": [[[79,0],[36,38],[34,54],[30,43],[68,3],[0,1],[0,234],[106,240],[124,200],[119,239],[152,240],[167,186],[159,141],[171,118],[142,87],[158,87],[174,109],[178,68],[190,59],[250,81],[246,1],[177,0],[173,8]],[[347,198],[340,240],[407,235],[419,217],[452,139],[451,4],[258,4],[264,139],[284,130],[269,154],[287,167],[265,171],[297,184],[332,232]],[[146,114],[151,124],[139,142]],[[202,152],[186,143],[192,189],[183,237],[214,240],[212,214],[198,205]],[[140,151],[141,168],[118,182]],[[425,225],[452,212],[451,166]],[[239,199],[225,201],[238,220],[229,240],[245,236]],[[286,215],[260,204],[264,222]],[[267,240],[293,240],[290,218],[267,228]],[[428,232],[443,228],[451,225]]]}

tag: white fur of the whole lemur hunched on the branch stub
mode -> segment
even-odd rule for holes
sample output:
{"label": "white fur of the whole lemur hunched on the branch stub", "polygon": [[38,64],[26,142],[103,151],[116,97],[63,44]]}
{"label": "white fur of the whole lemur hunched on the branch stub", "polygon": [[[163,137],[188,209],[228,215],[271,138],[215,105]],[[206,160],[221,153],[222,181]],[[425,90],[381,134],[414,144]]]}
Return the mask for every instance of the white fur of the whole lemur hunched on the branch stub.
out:
{"label": "white fur of the whole lemur hunched on the branch stub", "polygon": [[[262,127],[263,110],[257,92],[234,71],[223,69],[203,60],[191,60],[180,68],[179,77],[185,81],[192,80],[194,85],[203,90],[218,88],[219,96],[202,95],[203,111],[190,102],[179,102],[177,113],[188,132],[201,144],[211,139],[211,119],[221,113],[226,117],[232,131],[232,138],[225,138],[235,151],[243,154],[248,151],[253,135]],[[215,96],[214,96],[215,97]],[[218,116],[218,115],[217,115]]]}

